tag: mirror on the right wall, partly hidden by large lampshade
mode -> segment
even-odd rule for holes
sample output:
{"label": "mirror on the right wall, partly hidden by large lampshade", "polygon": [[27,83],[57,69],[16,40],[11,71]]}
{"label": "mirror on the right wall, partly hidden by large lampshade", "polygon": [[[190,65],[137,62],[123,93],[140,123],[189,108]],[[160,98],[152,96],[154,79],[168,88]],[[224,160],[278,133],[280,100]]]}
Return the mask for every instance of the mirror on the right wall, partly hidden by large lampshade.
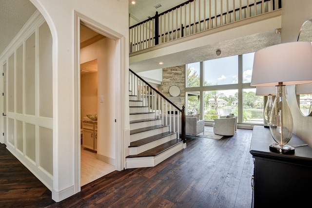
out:
{"label": "mirror on the right wall, partly hidden by large lampshade", "polygon": [[[312,19],[302,24],[297,40],[312,42]],[[300,113],[312,116],[312,83],[296,85],[295,90]]]}

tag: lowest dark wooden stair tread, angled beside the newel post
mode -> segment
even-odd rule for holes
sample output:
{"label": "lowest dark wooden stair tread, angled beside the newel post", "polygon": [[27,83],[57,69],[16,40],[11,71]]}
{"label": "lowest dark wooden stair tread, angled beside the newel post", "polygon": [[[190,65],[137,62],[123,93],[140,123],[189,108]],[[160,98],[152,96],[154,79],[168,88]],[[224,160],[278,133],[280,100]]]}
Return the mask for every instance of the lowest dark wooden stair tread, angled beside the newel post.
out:
{"label": "lowest dark wooden stair tread, angled beside the newel post", "polygon": [[156,156],[168,149],[170,149],[171,147],[174,147],[176,146],[177,144],[181,143],[181,139],[173,139],[169,142],[166,142],[162,145],[159,145],[155,148],[152,148],[150,150],[147,150],[147,151],[144,151],[140,154],[136,154],[136,155],[129,155],[127,156],[126,158],[134,158],[134,157],[153,157],[153,156]]}

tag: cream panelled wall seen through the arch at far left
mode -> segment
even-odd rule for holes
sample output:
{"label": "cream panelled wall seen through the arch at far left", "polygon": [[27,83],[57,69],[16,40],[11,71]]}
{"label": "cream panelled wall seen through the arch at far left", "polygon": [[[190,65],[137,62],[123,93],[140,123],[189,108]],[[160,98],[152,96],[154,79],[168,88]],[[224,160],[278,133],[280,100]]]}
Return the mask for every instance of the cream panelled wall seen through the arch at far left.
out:
{"label": "cream panelled wall seen through the arch at far left", "polygon": [[2,53],[0,62],[5,63],[7,74],[4,77],[7,101],[3,102],[7,125],[1,142],[52,189],[52,36],[38,11]]}

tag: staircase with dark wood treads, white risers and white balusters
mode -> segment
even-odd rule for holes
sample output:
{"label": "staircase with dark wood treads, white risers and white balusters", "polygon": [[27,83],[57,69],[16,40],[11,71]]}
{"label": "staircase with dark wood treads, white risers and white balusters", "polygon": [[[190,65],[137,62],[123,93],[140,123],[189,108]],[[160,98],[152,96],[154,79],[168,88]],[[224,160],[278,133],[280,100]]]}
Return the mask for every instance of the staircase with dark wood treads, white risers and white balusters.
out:
{"label": "staircase with dark wood treads, white risers and white balusters", "polygon": [[[132,80],[131,82],[135,83],[133,86],[141,86],[140,89],[142,86],[145,87],[145,92],[155,90],[151,86],[142,85],[142,83],[137,85],[137,81]],[[186,143],[185,139],[183,141],[180,138],[180,133],[175,130],[173,124],[168,121],[167,116],[171,115],[161,114],[161,108],[156,108],[156,102],[158,102],[158,106],[162,106],[160,103],[164,103],[159,99],[161,97],[159,92],[141,94],[140,92],[143,90],[137,89],[137,87],[129,87],[130,145],[129,155],[126,156],[127,168],[154,167],[184,149]],[[132,92],[133,90],[136,92]],[[167,102],[165,103],[167,104]],[[169,112],[171,112],[171,108]]]}

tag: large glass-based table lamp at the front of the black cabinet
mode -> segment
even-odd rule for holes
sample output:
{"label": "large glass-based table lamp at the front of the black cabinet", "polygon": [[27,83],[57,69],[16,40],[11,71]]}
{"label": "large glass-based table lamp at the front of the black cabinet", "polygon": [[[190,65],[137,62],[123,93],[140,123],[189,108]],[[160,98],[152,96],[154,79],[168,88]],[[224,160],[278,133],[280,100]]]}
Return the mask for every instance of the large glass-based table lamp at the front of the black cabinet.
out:
{"label": "large glass-based table lamp at the front of the black cabinet", "polygon": [[311,42],[289,42],[273,45],[254,54],[251,86],[276,86],[270,116],[270,132],[276,143],[270,150],[294,153],[287,143],[292,138],[292,113],[285,95],[286,85],[312,82]]}

